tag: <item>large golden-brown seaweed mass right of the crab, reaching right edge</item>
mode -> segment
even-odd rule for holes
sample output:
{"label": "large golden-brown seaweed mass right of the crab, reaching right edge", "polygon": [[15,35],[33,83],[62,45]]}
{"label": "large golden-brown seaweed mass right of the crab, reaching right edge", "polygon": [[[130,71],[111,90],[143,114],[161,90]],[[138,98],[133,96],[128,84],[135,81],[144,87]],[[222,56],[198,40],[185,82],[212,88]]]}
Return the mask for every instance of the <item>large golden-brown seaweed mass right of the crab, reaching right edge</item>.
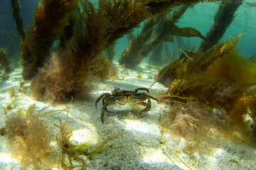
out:
{"label": "large golden-brown seaweed mass right of the crab, reaching right edge", "polygon": [[[251,127],[256,123],[256,100],[250,87],[255,85],[256,69],[255,63],[235,50],[239,36],[206,52],[191,52],[169,64],[161,82],[169,86],[165,95],[169,103],[186,103],[192,99],[206,108],[219,109],[225,123],[248,136],[250,131],[255,135]],[[252,121],[245,119],[247,116]]]}

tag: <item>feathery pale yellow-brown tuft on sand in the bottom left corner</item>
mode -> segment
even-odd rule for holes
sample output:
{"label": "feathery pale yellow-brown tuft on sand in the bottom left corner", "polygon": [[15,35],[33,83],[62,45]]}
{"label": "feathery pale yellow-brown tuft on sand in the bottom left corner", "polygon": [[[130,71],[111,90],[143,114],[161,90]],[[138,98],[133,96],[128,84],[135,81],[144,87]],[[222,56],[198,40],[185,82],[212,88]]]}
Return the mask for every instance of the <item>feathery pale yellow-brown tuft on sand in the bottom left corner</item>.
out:
{"label": "feathery pale yellow-brown tuft on sand in the bottom left corner", "polygon": [[43,169],[53,162],[51,130],[45,120],[34,112],[35,105],[26,111],[13,113],[6,120],[6,137],[13,148],[13,157],[19,160],[23,169]]}

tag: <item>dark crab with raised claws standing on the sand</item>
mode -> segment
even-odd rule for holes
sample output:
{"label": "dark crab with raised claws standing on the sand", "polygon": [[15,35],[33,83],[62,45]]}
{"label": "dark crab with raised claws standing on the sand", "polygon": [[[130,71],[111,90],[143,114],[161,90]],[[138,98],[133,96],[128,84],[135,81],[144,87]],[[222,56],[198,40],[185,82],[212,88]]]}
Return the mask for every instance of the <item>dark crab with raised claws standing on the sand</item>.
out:
{"label": "dark crab with raised claws standing on the sand", "polygon": [[[104,115],[107,111],[107,106],[114,106],[114,105],[124,105],[126,103],[136,103],[142,106],[146,106],[146,108],[142,109],[142,111],[139,111],[139,115],[142,113],[146,113],[151,109],[151,99],[154,99],[159,103],[157,98],[154,98],[152,96],[147,95],[146,93],[139,93],[138,91],[146,91],[149,93],[149,89],[146,88],[139,88],[135,89],[134,91],[125,91],[119,88],[115,88],[114,91],[112,91],[112,94],[102,94],[97,100],[95,101],[95,107],[97,110],[97,103],[102,99],[102,113],[101,113],[101,120],[102,123],[104,123]],[[148,100],[147,103],[144,101]],[[111,112],[110,112],[111,113]]]}

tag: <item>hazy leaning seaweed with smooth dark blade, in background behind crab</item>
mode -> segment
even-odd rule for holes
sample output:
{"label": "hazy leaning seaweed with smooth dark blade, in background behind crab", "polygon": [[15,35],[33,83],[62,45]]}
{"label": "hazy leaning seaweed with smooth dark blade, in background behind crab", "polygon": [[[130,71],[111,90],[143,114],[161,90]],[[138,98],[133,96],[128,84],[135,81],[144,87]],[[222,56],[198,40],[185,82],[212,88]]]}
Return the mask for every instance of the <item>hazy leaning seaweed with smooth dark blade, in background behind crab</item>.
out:
{"label": "hazy leaning seaweed with smooth dark blade, in background behind crab", "polygon": [[[177,22],[178,19],[181,18],[181,16],[183,15],[183,13],[186,11],[187,8],[188,6],[183,5],[181,6],[181,8],[178,8],[177,10],[175,10],[172,13],[171,17],[168,17],[164,20],[164,26],[163,26],[163,22],[161,21],[161,18],[163,20],[166,14],[163,13],[154,18],[149,18],[149,20],[144,23],[141,33],[139,33],[137,37],[133,36],[132,40],[129,41],[129,47],[125,49],[124,52],[122,53],[119,59],[119,64],[124,64],[124,67],[126,68],[136,67],[140,62],[142,62],[144,57],[149,56],[149,53],[152,50],[157,48],[159,51],[161,51],[160,44],[163,43],[162,41],[163,40],[170,41],[170,40],[166,40],[167,36],[172,39],[174,39],[173,35],[201,36],[202,38],[203,35],[201,35],[201,33],[199,33],[196,29],[194,30],[193,28],[181,29],[176,27],[175,25],[174,26],[171,25],[171,23],[174,24],[174,22]],[[157,29],[156,36],[154,37],[153,40],[150,40],[151,37],[153,36],[153,31],[155,30],[154,26],[156,24],[159,25],[156,28]],[[190,33],[188,33],[188,31]],[[170,37],[169,35],[171,35],[172,37]],[[174,40],[172,40],[172,42],[174,42]],[[161,52],[159,51],[155,51],[156,55],[152,55],[157,57],[154,60],[151,59],[150,60],[151,63],[154,62],[157,64],[161,64],[161,57],[160,57]]]}

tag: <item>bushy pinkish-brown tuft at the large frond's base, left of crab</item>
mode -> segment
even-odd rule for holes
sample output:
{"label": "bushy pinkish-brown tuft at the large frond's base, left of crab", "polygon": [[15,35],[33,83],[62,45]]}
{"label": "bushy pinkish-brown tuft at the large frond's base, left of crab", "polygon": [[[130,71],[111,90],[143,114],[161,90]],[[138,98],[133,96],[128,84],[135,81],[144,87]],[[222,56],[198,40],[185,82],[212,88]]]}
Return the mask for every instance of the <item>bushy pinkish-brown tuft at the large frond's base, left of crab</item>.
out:
{"label": "bushy pinkish-brown tuft at the large frond's base, left of crab", "polygon": [[39,69],[38,74],[31,81],[32,95],[38,99],[61,103],[70,101],[75,94],[84,94],[92,90],[91,74],[83,77],[75,76],[75,67],[71,60],[72,54],[69,50],[54,52],[50,60]]}

